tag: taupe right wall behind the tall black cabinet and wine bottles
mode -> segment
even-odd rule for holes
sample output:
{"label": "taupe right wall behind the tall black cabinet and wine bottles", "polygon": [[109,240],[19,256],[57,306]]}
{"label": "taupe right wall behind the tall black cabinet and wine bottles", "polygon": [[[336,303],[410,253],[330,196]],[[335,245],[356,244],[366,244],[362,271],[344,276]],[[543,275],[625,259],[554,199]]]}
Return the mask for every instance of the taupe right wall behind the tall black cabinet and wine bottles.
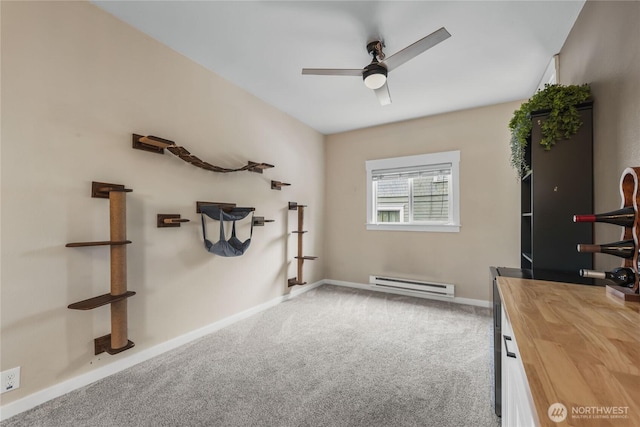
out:
{"label": "taupe right wall behind the tall black cabinet and wine bottles", "polygon": [[[620,206],[620,175],[640,167],[640,2],[587,1],[560,52],[560,81],[590,83],[594,103],[596,212]],[[620,229],[596,226],[596,242],[620,239]],[[596,267],[620,260],[596,254]]]}

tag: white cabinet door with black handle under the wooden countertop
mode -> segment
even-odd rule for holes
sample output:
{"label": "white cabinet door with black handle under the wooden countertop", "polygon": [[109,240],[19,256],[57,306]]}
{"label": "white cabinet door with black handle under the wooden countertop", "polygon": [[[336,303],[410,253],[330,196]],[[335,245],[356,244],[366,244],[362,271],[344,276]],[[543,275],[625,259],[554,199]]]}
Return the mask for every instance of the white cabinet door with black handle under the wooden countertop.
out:
{"label": "white cabinet door with black handle under the wooden countertop", "polygon": [[502,426],[538,425],[527,375],[511,324],[502,308]]}

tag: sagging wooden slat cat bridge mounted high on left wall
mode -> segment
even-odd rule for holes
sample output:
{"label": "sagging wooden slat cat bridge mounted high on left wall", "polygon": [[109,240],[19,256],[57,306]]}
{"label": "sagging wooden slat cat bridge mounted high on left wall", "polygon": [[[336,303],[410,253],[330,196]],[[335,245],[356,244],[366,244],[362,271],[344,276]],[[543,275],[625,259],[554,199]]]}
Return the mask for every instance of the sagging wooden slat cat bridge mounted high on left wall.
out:
{"label": "sagging wooden slat cat bridge mounted high on left wall", "polygon": [[175,142],[157,136],[143,136],[134,133],[132,136],[132,142],[132,146],[136,150],[150,151],[157,154],[164,154],[164,149],[166,148],[169,152],[171,152],[171,154],[174,154],[185,162],[212,172],[227,173],[249,171],[262,173],[263,170],[274,167],[273,165],[270,165],[268,163],[257,163],[250,161],[246,165],[237,169],[223,168],[220,166],[212,165],[211,163],[207,163],[204,160],[191,154],[189,151],[187,151],[186,148],[176,145]]}

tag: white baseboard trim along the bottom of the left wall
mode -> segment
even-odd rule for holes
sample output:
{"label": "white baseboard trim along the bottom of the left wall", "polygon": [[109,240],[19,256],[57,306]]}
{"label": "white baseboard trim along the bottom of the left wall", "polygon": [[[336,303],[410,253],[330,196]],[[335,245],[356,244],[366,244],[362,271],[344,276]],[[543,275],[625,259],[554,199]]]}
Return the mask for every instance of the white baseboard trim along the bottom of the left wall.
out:
{"label": "white baseboard trim along the bottom of the left wall", "polygon": [[254,314],[260,313],[261,311],[274,307],[280,304],[281,302],[287,301],[300,294],[310,291],[311,289],[317,288],[318,286],[324,283],[325,283],[324,280],[320,280],[318,282],[305,285],[302,287],[296,286],[293,289],[291,289],[291,291],[288,294],[279,296],[277,298],[274,298],[270,301],[267,301],[255,307],[252,307],[250,309],[236,313],[233,316],[229,316],[217,322],[211,323],[210,325],[188,332],[184,335],[180,335],[176,338],[170,339],[169,341],[165,341],[161,344],[155,345],[146,350],[142,350],[139,353],[134,353],[129,357],[119,359],[113,363],[110,363],[109,365],[103,366],[94,371],[87,372],[86,374],[79,375],[75,378],[71,378],[69,380],[63,381],[59,384],[48,387],[44,390],[35,392],[33,394],[23,397],[22,399],[16,400],[15,402],[2,405],[0,406],[0,421],[4,421],[21,412],[35,408],[36,406],[41,405],[51,399],[55,399],[56,397],[60,397],[73,390],[77,390],[81,387],[84,387],[93,382],[101,380],[102,378],[106,378],[117,372],[123,371],[127,368],[137,365],[138,363],[149,360],[152,357],[158,356],[162,353],[166,353],[167,351],[181,347],[185,344],[190,343],[191,341],[195,341],[199,338],[202,338],[205,335],[209,335],[213,332],[219,331],[220,329],[226,328],[227,326],[230,326],[240,320],[244,320],[248,317],[253,316]]}

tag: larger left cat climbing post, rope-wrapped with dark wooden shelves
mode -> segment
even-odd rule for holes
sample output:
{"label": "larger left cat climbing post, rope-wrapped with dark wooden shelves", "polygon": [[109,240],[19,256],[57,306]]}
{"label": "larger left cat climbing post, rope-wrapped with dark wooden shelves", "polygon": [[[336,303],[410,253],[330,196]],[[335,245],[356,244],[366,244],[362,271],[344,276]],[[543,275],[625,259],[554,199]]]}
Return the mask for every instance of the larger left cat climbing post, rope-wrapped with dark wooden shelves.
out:
{"label": "larger left cat climbing post, rope-wrapped with dark wooden shelves", "polygon": [[131,192],[124,185],[93,182],[91,197],[109,199],[110,240],[100,242],[67,243],[68,248],[83,246],[110,246],[111,292],[70,304],[72,310],[92,310],[111,305],[111,334],[94,340],[95,354],[117,354],[134,346],[127,338],[127,298],[135,292],[127,291],[127,211],[125,195]]}

